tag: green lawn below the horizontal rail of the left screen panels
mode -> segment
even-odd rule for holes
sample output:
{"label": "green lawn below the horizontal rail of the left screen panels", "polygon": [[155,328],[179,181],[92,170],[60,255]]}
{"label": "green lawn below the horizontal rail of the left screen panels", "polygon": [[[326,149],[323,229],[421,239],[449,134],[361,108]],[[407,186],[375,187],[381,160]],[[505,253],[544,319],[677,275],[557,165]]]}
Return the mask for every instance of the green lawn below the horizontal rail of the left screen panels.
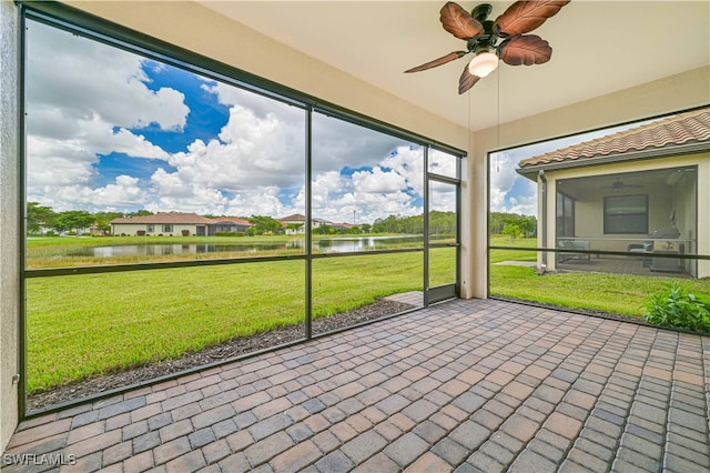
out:
{"label": "green lawn below the horizontal rail of the left screen panels", "polygon": [[[422,253],[313,263],[314,316],[422,290]],[[305,262],[27,280],[28,393],[304,323]]]}

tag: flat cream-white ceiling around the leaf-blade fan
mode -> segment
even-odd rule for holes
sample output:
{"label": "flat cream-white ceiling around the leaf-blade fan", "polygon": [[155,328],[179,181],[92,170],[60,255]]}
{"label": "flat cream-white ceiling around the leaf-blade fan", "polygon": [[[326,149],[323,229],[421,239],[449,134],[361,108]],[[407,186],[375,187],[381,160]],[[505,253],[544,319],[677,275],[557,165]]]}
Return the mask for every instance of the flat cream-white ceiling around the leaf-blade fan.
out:
{"label": "flat cream-white ceiling around the leaf-blade fan", "polygon": [[[500,63],[464,95],[458,95],[458,77],[470,56],[403,73],[465,49],[442,28],[444,0],[202,3],[473,130],[710,63],[709,1],[572,1],[532,32],[552,47],[548,63]],[[469,11],[478,3],[459,2]],[[489,3],[495,19],[513,2]]]}

